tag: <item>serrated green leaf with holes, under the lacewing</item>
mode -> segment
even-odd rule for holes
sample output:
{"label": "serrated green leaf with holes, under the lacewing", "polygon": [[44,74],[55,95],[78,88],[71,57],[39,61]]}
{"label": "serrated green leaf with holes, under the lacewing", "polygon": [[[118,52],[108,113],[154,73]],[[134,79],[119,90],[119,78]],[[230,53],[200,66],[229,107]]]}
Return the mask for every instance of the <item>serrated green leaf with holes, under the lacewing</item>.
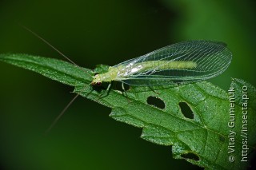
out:
{"label": "serrated green leaf with holes, under the lacewing", "polygon": [[[131,86],[126,93],[117,89],[106,92],[106,89],[90,85],[94,75],[90,69],[66,61],[26,54],[2,54],[0,60],[74,86],[75,93],[110,107],[110,117],[142,128],[142,139],[172,145],[174,158],[185,159],[206,169],[244,169],[249,166],[249,162],[241,160],[247,157],[249,161],[255,149],[256,89],[246,81],[232,81],[230,89],[234,89],[234,99],[232,92],[226,93],[206,81],[154,89]],[[95,72],[106,70],[106,65],[99,65]],[[163,102],[164,109],[158,108],[157,104],[149,105],[149,97]],[[230,115],[233,101],[234,115]],[[184,116],[186,111],[181,108],[181,103],[193,112],[193,118]],[[229,126],[232,121],[234,127]],[[244,157],[242,153],[245,153]],[[234,156],[234,162],[229,161],[230,156]]]}

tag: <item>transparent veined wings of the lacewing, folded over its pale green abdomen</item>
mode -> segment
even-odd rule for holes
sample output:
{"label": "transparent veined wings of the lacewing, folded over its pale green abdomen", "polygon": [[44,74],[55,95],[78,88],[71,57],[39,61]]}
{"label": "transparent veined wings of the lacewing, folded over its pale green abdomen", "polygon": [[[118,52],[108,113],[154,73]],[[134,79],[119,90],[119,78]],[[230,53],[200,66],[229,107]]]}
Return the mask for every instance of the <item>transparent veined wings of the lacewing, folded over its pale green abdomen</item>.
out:
{"label": "transparent veined wings of the lacewing, folded over its pale green abdomen", "polygon": [[117,81],[128,85],[169,85],[218,76],[230,65],[232,53],[223,42],[190,41],[168,45],[124,61]]}

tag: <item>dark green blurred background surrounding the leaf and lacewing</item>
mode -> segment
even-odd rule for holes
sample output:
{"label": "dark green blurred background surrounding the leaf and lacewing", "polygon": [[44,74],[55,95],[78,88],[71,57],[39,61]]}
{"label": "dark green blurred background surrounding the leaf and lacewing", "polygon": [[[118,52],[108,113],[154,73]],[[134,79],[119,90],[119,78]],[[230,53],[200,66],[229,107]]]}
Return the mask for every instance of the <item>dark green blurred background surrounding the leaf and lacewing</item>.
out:
{"label": "dark green blurred background surrounding the leaf and lacewing", "polygon": [[[0,53],[63,59],[18,23],[40,34],[78,65],[116,65],[174,42],[226,42],[230,77],[256,85],[255,2],[238,0],[1,1]],[[74,97],[73,88],[0,63],[1,169],[194,168],[171,147],[139,138],[142,129],[112,120],[110,109],[78,97],[58,124],[44,131]]]}

